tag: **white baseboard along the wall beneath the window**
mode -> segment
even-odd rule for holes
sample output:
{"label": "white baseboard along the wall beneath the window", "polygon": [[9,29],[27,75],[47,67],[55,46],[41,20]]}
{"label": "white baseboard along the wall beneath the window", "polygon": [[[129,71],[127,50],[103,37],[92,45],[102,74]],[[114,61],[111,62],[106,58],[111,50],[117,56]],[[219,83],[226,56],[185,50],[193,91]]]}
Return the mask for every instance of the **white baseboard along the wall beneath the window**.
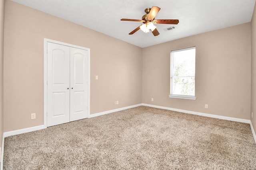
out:
{"label": "white baseboard along the wall beneath the window", "polygon": [[208,113],[200,113],[196,111],[188,111],[188,110],[182,110],[182,109],[174,109],[170,107],[163,107],[163,106],[156,106],[156,105],[150,105],[150,104],[142,104],[142,106],[149,106],[149,107],[155,107],[159,109],[166,109],[166,110],[172,110],[172,111],[178,111],[182,113],[189,113],[193,115],[200,115],[200,116],[205,116],[205,117],[212,117],[212,118],[217,118],[217,119],[224,119],[224,120],[230,120],[230,121],[237,121],[237,122],[242,122],[242,123],[250,123],[250,120],[247,119],[238,119],[234,117],[226,117],[226,116],[220,116],[220,115],[212,115]]}

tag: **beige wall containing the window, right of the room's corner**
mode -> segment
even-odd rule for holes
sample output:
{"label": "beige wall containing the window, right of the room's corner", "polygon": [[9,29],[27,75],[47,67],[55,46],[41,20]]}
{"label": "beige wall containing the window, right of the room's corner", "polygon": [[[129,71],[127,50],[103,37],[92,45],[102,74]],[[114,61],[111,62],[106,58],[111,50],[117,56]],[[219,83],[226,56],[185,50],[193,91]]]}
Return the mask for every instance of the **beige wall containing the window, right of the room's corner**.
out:
{"label": "beige wall containing the window, right of the room's corner", "polygon": [[[169,98],[170,52],[193,46],[196,100]],[[142,54],[144,104],[250,119],[250,23],[147,47]]]}

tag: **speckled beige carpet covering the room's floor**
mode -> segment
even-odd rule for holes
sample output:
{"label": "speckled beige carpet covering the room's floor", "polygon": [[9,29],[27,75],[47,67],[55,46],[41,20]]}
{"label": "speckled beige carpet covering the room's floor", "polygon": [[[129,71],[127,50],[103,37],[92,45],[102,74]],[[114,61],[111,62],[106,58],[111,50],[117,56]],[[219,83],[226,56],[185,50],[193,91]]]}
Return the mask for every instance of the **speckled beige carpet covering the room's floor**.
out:
{"label": "speckled beige carpet covering the room's floor", "polygon": [[4,170],[256,169],[250,125],[140,106],[4,140]]}

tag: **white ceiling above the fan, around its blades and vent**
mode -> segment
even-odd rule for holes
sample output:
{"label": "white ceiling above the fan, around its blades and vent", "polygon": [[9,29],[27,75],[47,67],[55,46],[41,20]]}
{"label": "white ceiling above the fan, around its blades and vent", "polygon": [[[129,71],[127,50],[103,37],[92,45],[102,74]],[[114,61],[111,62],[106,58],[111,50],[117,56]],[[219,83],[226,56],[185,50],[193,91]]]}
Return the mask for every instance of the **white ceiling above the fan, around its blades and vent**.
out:
{"label": "white ceiling above the fan, around its blades and vent", "polygon": [[[25,6],[72,21],[117,39],[148,47],[174,39],[250,22],[255,0],[12,0]],[[178,25],[156,24],[160,33],[138,30],[145,8],[158,6],[155,19],[178,19]],[[176,26],[176,29],[164,31]]]}

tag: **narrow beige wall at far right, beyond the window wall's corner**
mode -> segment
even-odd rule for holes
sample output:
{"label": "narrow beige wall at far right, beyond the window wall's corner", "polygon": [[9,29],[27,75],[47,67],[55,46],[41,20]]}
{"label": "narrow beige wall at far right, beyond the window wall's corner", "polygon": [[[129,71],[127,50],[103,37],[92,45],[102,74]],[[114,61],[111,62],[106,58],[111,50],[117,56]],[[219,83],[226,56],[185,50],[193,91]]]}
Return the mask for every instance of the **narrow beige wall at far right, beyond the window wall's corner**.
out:
{"label": "narrow beige wall at far right, beyond the window wall's corner", "polygon": [[251,111],[254,116],[251,118],[252,126],[256,132],[256,4],[251,21],[252,29],[252,96],[251,96]]}

